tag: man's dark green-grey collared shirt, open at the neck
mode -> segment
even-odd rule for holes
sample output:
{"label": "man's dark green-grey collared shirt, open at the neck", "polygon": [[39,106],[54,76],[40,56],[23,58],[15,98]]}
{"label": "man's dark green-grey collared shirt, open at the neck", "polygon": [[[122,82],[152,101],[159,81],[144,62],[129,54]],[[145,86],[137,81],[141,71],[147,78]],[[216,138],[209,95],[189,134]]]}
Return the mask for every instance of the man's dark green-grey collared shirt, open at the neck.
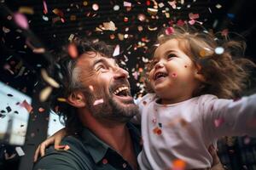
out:
{"label": "man's dark green-grey collared shirt, open at the neck", "polygon": [[[138,156],[142,149],[140,133],[131,123],[127,123],[127,127],[131,133],[135,154]],[[46,155],[34,165],[33,170],[132,169],[116,150],[98,139],[88,128],[84,127],[80,138],[68,136],[61,144],[67,144],[69,150],[55,150],[50,147],[46,150]]]}

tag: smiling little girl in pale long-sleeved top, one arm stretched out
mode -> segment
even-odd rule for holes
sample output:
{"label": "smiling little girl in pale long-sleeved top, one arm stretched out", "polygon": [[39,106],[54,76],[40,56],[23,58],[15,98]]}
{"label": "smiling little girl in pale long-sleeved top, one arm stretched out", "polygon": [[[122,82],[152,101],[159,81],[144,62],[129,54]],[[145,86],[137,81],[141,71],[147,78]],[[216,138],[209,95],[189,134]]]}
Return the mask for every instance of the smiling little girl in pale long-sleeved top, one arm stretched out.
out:
{"label": "smiling little girl in pale long-sleeved top, one arm stretched out", "polygon": [[255,65],[236,59],[237,49],[243,49],[239,42],[218,44],[209,33],[187,25],[167,33],[158,38],[148,68],[154,94],[140,100],[141,115],[133,120],[142,126],[139,166],[170,169],[174,160],[182,160],[186,169],[210,168],[207,148],[218,138],[256,136],[256,95],[232,99],[246,87],[247,66]]}

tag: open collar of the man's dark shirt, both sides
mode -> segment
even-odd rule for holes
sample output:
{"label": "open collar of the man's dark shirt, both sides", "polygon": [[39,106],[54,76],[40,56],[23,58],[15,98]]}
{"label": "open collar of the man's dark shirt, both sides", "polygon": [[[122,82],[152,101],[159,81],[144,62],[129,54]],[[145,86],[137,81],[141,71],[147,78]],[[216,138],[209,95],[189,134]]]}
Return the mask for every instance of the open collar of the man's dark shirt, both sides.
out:
{"label": "open collar of the man's dark shirt, both sides", "polygon": [[[128,122],[126,125],[131,133],[131,139],[134,146],[134,151],[136,156],[140,152],[140,134],[134,125],[131,122]],[[81,137],[83,143],[86,145],[87,150],[90,152],[93,160],[98,163],[102,158],[107,154],[108,149],[113,150],[108,144],[104,143],[101,139],[97,138],[94,133],[92,133],[87,127],[84,127]]]}

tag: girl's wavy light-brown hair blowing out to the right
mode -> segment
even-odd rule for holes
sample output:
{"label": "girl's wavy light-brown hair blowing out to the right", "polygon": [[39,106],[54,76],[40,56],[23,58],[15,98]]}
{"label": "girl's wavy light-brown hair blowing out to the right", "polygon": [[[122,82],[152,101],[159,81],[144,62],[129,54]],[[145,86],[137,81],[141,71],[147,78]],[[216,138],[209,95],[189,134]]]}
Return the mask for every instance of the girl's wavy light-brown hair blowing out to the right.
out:
{"label": "girl's wavy light-brown hair blowing out to the right", "polygon": [[[170,31],[171,28],[169,28]],[[167,35],[168,34],[168,35]],[[246,43],[229,38],[220,39],[203,29],[195,26],[173,26],[171,32],[160,32],[157,44],[177,39],[179,47],[196,65],[201,65],[201,74],[206,82],[202,82],[194,96],[214,94],[219,98],[230,99],[240,95],[247,87],[249,67],[255,64],[244,58]],[[221,47],[223,53],[217,54],[215,49]],[[152,65],[148,65],[148,71]],[[148,88],[152,91],[152,88]]]}

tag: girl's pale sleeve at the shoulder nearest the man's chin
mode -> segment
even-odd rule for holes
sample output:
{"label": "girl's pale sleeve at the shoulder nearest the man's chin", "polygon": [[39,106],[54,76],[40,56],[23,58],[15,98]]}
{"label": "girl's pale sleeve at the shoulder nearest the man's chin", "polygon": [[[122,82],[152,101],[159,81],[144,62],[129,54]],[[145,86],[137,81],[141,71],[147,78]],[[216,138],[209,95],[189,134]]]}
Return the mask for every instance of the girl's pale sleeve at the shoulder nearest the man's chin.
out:
{"label": "girl's pale sleeve at the shoulder nearest the man's chin", "polygon": [[131,119],[131,122],[137,125],[140,125],[142,122],[142,113],[143,109],[145,107],[145,102],[147,103],[148,99],[153,99],[155,94],[146,94],[143,96],[143,98],[136,99],[134,102],[138,106],[138,114],[136,116],[133,116]]}

